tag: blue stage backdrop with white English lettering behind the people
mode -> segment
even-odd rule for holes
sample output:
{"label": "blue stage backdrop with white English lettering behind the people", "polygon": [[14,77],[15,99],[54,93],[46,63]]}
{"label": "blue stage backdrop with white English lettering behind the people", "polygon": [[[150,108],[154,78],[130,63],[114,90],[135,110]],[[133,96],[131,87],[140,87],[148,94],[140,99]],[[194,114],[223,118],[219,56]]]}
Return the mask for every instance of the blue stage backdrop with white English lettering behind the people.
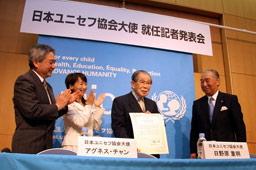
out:
{"label": "blue stage backdrop with white English lettering behind the people", "polygon": [[[106,93],[105,113],[100,131],[94,135],[113,137],[111,106],[115,97],[131,91],[131,76],[136,70],[148,71],[153,84],[148,98],[157,102],[166,123],[169,154],[161,158],[188,158],[190,121],[194,94],[193,57],[191,54],[90,40],[39,36],[56,50],[56,69],[47,81],[54,94],[65,90],[69,73],[87,76],[88,89],[96,96]],[[56,121],[54,145],[60,147],[64,136],[62,119]]]}

